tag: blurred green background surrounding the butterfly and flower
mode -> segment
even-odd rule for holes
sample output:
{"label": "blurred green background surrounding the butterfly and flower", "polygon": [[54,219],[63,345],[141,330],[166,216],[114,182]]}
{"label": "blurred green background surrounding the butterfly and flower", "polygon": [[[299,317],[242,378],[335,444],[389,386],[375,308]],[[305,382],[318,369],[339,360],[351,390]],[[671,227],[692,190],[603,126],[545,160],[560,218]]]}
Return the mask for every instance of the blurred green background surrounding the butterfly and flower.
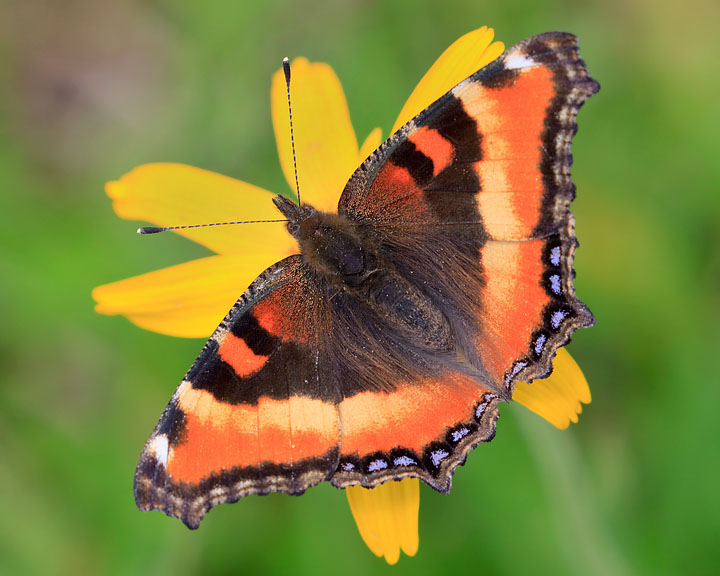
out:
{"label": "blurred green background surrounding the butterfly and flower", "polygon": [[[713,0],[0,3],[0,573],[717,573],[718,21]],[[422,490],[420,550],[394,567],[329,485],[195,532],[137,511],[136,458],[202,341],[96,315],[90,291],[204,252],[135,235],[104,183],[177,161],[286,190],[283,56],[329,62],[359,137],[387,136],[485,24],[507,45],[574,32],[602,85],[574,143],[576,288],[598,319],[570,346],[580,423],[505,406],[452,494]]]}

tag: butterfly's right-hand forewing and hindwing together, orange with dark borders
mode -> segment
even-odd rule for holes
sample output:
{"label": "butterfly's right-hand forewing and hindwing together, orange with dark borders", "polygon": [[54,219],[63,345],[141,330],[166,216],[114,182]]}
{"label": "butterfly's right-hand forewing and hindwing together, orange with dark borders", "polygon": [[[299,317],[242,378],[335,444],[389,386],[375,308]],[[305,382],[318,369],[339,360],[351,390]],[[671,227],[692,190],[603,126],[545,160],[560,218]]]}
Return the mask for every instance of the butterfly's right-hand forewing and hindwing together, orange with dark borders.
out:
{"label": "butterfly's right-hand forewing and hindwing together, orange with dark borders", "polygon": [[410,120],[340,199],[384,231],[399,272],[431,287],[469,334],[468,361],[508,392],[594,322],[572,284],[570,144],[598,89],[575,36],[529,38]]}

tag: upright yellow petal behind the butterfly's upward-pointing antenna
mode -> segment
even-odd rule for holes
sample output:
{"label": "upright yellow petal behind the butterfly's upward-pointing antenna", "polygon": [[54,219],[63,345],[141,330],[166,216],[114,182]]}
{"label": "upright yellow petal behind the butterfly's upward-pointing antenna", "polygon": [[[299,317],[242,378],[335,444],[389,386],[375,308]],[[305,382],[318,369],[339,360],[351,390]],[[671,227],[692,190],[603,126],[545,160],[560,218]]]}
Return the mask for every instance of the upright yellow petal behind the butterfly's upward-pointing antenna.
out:
{"label": "upright yellow petal behind the butterfly's upward-pointing antenna", "polygon": [[[318,210],[336,212],[340,193],[362,160],[345,94],[335,72],[327,64],[297,58],[291,69],[290,94],[300,198]],[[295,173],[282,70],[273,75],[271,108],[280,164],[294,191]]]}

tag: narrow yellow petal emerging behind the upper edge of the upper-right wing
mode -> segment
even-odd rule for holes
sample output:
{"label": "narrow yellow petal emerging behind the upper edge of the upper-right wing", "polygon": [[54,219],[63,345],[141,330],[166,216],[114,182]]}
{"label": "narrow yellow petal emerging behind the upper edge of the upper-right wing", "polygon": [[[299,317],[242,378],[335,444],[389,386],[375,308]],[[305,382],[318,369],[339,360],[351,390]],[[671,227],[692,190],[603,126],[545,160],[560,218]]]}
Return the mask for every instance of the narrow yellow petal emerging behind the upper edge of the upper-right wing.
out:
{"label": "narrow yellow petal emerging behind the upper edge of the upper-right wing", "polygon": [[392,131],[417,116],[465,78],[502,54],[505,45],[493,42],[495,31],[483,26],[458,38],[423,76],[403,106]]}

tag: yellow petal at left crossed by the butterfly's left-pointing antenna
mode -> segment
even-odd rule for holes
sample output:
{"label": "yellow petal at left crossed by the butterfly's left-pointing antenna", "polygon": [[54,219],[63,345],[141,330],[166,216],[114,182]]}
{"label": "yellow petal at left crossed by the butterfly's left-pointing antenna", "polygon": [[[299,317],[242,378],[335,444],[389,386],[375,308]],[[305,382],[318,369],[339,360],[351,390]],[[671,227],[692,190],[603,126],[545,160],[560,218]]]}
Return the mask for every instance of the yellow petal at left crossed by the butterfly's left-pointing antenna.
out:
{"label": "yellow petal at left crossed by the butterfly's left-pointing antenna", "polygon": [[[121,218],[160,226],[283,218],[272,203],[271,192],[183,164],[139,166],[120,180],[108,182],[106,191]],[[218,254],[258,252],[267,246],[283,255],[298,251],[283,223],[191,228],[177,233]]]}

